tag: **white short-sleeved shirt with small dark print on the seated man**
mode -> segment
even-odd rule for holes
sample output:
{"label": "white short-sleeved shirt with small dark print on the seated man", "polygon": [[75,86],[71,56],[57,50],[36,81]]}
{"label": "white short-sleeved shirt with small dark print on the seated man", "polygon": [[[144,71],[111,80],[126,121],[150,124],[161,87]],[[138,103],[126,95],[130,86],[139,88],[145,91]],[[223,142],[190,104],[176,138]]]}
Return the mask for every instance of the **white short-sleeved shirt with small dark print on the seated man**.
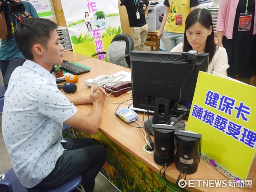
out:
{"label": "white short-sleeved shirt with small dark print on the seated man", "polygon": [[65,150],[63,122],[77,108],[59,91],[55,77],[33,61],[17,67],[5,93],[3,139],[21,183],[32,187],[53,170]]}

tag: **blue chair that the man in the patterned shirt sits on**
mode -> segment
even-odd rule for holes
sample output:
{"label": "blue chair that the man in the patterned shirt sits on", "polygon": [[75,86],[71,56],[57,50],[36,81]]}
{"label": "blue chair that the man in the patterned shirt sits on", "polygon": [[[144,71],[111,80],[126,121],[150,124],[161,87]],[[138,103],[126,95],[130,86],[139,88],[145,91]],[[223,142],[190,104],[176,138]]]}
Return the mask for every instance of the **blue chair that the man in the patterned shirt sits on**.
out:
{"label": "blue chair that the man in the patterned shirt sits on", "polygon": [[[80,186],[82,181],[82,175],[79,175],[77,178],[69,181],[65,185],[60,186],[57,189],[53,189],[45,192],[71,192],[77,188],[79,191],[84,192],[82,186]],[[32,190],[23,186],[15,175],[13,169],[9,169],[8,171],[3,173],[2,180],[0,182],[0,192],[38,192],[37,190]]]}

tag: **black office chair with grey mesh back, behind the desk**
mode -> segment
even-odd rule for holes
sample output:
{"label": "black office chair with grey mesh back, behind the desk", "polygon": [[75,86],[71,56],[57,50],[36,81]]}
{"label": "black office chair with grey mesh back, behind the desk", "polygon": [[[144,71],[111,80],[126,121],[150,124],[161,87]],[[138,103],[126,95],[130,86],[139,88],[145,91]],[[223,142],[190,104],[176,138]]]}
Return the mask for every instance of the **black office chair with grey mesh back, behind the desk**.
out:
{"label": "black office chair with grey mesh back, behind the desk", "polygon": [[125,33],[120,33],[115,35],[112,39],[106,52],[97,52],[91,56],[94,57],[99,54],[105,54],[106,61],[129,68],[129,55],[131,50],[133,50],[133,41],[131,36]]}

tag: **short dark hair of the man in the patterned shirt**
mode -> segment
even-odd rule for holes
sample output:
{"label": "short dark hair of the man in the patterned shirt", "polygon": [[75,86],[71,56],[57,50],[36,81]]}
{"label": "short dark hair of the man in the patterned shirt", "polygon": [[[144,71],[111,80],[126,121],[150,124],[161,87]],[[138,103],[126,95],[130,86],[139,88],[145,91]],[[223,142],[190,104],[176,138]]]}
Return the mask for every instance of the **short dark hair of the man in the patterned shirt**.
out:
{"label": "short dark hair of the man in the patterned shirt", "polygon": [[32,45],[39,43],[47,48],[50,35],[57,28],[58,25],[49,19],[32,17],[18,25],[14,38],[24,57],[33,60]]}

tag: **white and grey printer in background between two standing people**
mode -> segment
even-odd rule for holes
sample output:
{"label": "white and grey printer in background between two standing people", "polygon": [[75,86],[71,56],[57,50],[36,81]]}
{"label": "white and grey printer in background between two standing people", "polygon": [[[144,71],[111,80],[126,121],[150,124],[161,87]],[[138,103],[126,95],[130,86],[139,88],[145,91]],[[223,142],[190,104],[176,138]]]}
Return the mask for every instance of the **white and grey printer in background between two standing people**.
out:
{"label": "white and grey printer in background between two standing people", "polygon": [[160,29],[161,22],[159,20],[159,16],[165,13],[165,6],[162,3],[152,5],[150,4],[149,10],[147,13],[147,26],[148,32],[154,32]]}

